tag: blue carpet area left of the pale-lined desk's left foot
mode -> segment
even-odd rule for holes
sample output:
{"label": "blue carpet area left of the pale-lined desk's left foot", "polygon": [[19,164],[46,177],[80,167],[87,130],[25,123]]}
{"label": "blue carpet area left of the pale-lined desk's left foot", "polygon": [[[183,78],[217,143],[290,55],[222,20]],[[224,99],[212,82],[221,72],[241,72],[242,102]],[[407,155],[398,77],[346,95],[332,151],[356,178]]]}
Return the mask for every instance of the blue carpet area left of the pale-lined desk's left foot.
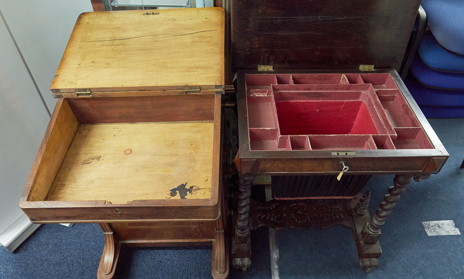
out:
{"label": "blue carpet area left of the pale-lined desk's left foot", "polygon": [[97,224],[40,226],[14,253],[0,249],[1,279],[96,278],[104,239]]}

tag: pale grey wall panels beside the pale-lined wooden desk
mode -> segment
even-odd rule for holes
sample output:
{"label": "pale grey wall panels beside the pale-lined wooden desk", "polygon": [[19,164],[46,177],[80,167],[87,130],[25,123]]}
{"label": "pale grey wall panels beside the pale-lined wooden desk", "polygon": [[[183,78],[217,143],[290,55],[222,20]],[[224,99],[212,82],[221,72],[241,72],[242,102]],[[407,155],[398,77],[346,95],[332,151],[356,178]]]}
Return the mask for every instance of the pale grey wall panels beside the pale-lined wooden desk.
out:
{"label": "pale grey wall panels beside the pale-lined wooden desk", "polygon": [[23,214],[19,197],[50,119],[40,94],[52,112],[50,84],[77,16],[90,11],[90,0],[0,0],[32,74],[0,23],[0,234]]}

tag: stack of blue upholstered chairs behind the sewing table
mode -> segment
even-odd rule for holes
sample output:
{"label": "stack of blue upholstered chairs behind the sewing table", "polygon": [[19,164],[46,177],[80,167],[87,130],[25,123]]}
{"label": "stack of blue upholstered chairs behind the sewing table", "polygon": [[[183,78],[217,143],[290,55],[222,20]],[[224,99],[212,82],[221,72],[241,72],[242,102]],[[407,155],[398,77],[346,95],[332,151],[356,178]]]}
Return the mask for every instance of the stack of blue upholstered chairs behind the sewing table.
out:
{"label": "stack of blue upholstered chairs behind the sewing table", "polygon": [[422,0],[427,25],[405,84],[425,117],[464,117],[464,0]]}

